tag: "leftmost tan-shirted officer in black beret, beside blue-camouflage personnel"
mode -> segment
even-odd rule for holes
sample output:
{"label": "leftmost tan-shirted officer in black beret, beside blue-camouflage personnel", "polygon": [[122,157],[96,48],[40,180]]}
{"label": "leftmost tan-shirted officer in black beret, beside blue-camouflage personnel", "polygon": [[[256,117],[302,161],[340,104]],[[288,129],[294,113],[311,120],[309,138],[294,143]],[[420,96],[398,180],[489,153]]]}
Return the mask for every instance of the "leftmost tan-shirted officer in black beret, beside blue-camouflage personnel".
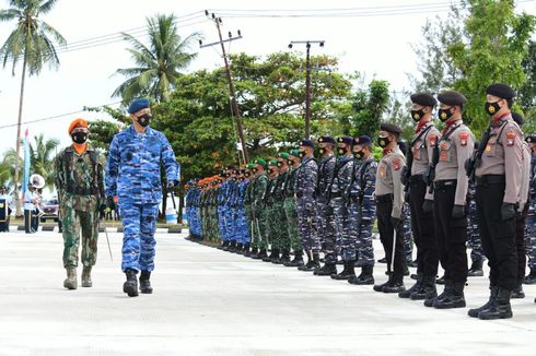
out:
{"label": "leftmost tan-shirted officer in black beret, beside blue-camouflage personnel", "polygon": [[375,292],[400,293],[405,290],[404,268],[405,248],[401,222],[404,189],[400,175],[406,166],[406,158],[398,147],[403,130],[393,123],[380,126],[377,144],[383,149],[383,157],[376,173],[376,215],[380,240],[385,250],[389,280],[375,285]]}

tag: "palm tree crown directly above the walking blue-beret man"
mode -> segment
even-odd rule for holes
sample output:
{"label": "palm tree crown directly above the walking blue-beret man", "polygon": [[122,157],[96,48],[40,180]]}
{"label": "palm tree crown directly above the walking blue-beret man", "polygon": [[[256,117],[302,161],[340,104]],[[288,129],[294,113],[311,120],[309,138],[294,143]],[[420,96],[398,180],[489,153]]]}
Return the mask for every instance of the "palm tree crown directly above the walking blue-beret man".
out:
{"label": "palm tree crown directly above the walking blue-beret man", "polygon": [[128,103],[138,96],[150,96],[156,102],[167,100],[179,70],[188,67],[196,54],[187,52],[198,33],[190,34],[184,40],[177,34],[175,15],[156,15],[148,17],[149,47],[133,36],[123,33],[124,39],[132,48],[130,52],[137,67],[118,69],[116,74],[128,76],[112,96],[120,96]]}

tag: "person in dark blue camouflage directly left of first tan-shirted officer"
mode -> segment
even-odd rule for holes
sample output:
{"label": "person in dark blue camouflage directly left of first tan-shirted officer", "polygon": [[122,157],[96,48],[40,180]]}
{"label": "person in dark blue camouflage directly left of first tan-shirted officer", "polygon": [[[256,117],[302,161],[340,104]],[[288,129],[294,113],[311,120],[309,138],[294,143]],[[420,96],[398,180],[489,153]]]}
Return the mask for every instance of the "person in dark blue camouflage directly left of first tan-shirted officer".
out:
{"label": "person in dark blue camouflage directly left of first tan-shirted officer", "polygon": [[372,140],[368,135],[354,139],[353,177],[350,183],[350,240],[342,244],[342,259],[357,261],[361,266],[359,276],[350,276],[348,283],[357,285],[374,284],[374,248],[372,246],[372,226],[376,217],[377,163],[372,155]]}

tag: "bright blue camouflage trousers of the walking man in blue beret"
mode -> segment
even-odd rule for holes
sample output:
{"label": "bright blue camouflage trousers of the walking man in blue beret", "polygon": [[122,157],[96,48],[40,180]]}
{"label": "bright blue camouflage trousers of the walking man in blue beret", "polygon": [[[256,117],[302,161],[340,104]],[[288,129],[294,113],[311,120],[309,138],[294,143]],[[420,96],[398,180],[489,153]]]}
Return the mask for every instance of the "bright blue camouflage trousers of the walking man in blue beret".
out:
{"label": "bright blue camouflage trousers of the walking man in blue beret", "polygon": [[159,204],[123,204],[123,263],[121,269],[135,271],[154,270],[154,230]]}

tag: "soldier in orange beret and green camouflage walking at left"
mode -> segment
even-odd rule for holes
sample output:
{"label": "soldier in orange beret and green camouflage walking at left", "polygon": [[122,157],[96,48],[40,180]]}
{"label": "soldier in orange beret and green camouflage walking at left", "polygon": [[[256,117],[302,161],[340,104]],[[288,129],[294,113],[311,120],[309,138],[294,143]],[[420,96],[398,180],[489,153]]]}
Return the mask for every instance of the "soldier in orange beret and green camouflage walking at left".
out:
{"label": "soldier in orange beret and green camouflage walking at left", "polygon": [[106,209],[104,198],[104,157],[86,140],[88,122],[74,120],[69,127],[72,145],[55,159],[56,190],[63,224],[63,286],[77,289],[77,266],[82,233],[82,287],[91,287],[91,269],[95,264],[98,239],[98,213]]}

